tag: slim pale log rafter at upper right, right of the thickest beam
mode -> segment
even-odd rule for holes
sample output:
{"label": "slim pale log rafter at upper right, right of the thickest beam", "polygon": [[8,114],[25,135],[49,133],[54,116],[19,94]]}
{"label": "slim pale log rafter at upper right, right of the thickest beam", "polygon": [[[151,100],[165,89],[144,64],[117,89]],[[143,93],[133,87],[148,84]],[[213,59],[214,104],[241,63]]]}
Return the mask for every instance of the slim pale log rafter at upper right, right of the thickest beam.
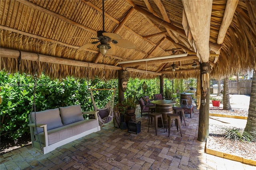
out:
{"label": "slim pale log rafter at upper right, right of the thickest beam", "polygon": [[220,25],[220,31],[218,34],[218,44],[222,44],[226,35],[226,32],[228,30],[228,27],[230,26],[234,13],[236,11],[236,6],[238,4],[238,0],[228,0],[226,4],[225,13],[222,19],[222,23]]}

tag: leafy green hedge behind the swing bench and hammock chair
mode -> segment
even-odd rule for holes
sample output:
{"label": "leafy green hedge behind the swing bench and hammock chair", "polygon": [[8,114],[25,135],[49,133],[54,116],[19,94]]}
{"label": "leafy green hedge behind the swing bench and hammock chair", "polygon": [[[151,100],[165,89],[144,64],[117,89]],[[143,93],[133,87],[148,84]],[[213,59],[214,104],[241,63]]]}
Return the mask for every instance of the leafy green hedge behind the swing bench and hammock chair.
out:
{"label": "leafy green hedge behind the swing bench and hammock chair", "polygon": [[[118,103],[118,80],[100,81],[96,78],[76,79],[50,79],[42,74],[36,79],[36,111],[54,109],[69,105],[81,104],[82,111],[93,111],[90,87],[97,89],[116,88],[115,104]],[[20,84],[18,85],[18,81]],[[143,91],[142,84],[146,82],[147,89]],[[2,104],[0,104],[1,138],[11,137],[14,140],[24,134],[29,134],[29,115],[34,99],[34,77],[25,73],[6,73],[0,71],[0,88]],[[179,82],[180,84],[180,82]],[[182,87],[183,85],[179,85]],[[165,80],[165,87],[171,89],[171,81]],[[175,88],[174,88],[175,89]],[[136,99],[143,96],[153,97],[160,92],[159,79],[140,80],[130,79],[124,97],[134,95]],[[102,108],[112,97],[112,91],[93,91],[94,101],[98,108]]]}

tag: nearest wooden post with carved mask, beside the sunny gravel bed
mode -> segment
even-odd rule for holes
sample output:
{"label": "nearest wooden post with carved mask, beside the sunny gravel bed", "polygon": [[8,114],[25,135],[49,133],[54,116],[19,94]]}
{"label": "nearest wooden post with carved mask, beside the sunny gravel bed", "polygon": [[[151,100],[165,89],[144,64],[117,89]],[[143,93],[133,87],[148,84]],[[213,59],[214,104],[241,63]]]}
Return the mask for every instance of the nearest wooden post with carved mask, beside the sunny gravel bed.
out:
{"label": "nearest wooden post with carved mask, beside the sunny gravel bed", "polygon": [[[206,142],[209,135],[209,97],[210,97],[210,63],[200,64],[201,105],[199,109],[198,138]],[[209,76],[209,77],[208,77]],[[206,93],[206,94],[205,94]]]}

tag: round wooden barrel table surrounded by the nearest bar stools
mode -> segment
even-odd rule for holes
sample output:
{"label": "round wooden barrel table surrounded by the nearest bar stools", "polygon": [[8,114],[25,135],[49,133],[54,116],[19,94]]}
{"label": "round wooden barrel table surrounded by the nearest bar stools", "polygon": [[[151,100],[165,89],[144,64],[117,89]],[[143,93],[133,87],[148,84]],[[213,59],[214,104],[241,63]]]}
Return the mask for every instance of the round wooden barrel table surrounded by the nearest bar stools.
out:
{"label": "round wooden barrel table surrounded by the nearest bar stools", "polygon": [[[151,101],[151,103],[156,105],[155,112],[162,113],[164,128],[167,128],[167,114],[172,114],[172,105],[176,104],[176,101],[172,100],[155,100]],[[162,121],[158,120],[158,125],[162,125]]]}

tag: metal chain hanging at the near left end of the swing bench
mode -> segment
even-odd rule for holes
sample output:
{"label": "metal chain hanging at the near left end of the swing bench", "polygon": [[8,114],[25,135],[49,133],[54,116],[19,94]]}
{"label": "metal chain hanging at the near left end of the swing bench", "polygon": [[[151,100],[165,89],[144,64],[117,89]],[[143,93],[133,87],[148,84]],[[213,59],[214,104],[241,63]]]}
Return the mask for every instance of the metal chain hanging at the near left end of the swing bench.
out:
{"label": "metal chain hanging at the near left end of the swing bench", "polygon": [[[40,148],[41,150],[42,149],[42,144],[41,144],[41,141],[40,141],[40,138],[39,138],[39,134],[38,134],[38,129],[37,129],[37,125],[36,125],[36,82],[37,82],[37,76],[38,76],[38,70],[39,70],[39,54],[38,55],[38,64],[37,64],[37,67],[36,67],[36,71],[34,72],[34,99],[33,99],[33,104],[32,104],[32,108],[31,108],[31,113],[33,112],[33,109],[34,109],[34,112],[35,112],[35,128],[36,128],[36,134],[37,134],[37,138],[39,140],[39,144],[40,144]],[[35,67],[35,62],[34,62],[34,67]]]}

